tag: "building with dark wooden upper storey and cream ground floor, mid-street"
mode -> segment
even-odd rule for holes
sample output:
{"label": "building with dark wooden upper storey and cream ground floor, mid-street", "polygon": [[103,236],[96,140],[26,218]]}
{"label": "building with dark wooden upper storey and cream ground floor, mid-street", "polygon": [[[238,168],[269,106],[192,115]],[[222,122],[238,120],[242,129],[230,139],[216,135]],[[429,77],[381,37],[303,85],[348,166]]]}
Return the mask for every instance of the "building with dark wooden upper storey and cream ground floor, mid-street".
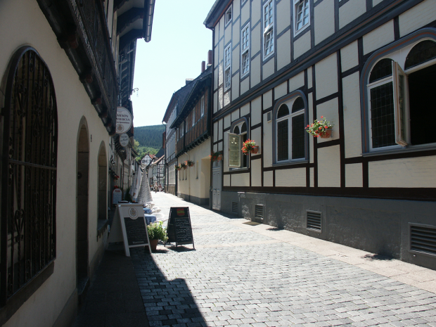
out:
{"label": "building with dark wooden upper storey and cream ground floor, mid-street", "polygon": [[[210,63],[212,52],[209,53]],[[210,92],[212,65],[202,63],[202,72],[185,86],[184,105],[171,124],[176,129],[175,157],[179,164],[192,161],[193,166],[177,174],[177,196],[199,205],[210,203]]]}

